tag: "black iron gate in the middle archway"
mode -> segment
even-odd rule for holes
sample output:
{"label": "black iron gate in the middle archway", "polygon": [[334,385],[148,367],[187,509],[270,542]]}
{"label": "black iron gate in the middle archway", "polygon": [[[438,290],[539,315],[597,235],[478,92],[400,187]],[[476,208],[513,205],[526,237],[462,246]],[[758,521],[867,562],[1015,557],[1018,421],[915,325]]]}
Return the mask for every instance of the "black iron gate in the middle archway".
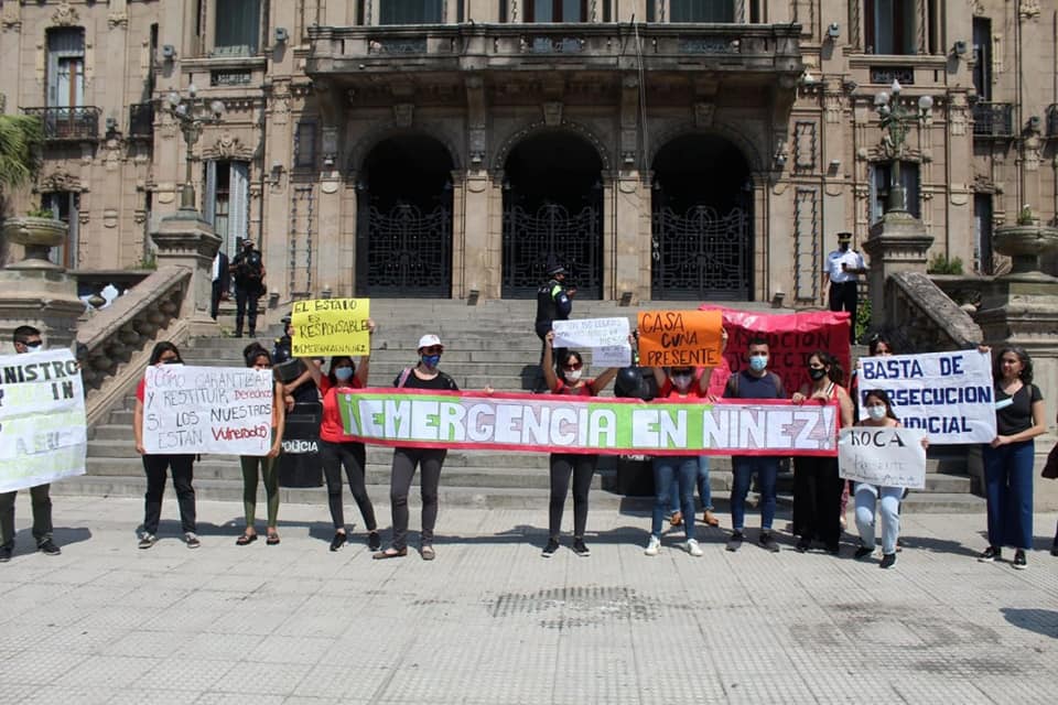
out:
{"label": "black iron gate in the middle archway", "polygon": [[580,299],[602,299],[602,217],[586,206],[576,215],[558,204],[535,214],[520,206],[504,209],[503,297],[531,299],[547,280],[550,257],[563,265]]}

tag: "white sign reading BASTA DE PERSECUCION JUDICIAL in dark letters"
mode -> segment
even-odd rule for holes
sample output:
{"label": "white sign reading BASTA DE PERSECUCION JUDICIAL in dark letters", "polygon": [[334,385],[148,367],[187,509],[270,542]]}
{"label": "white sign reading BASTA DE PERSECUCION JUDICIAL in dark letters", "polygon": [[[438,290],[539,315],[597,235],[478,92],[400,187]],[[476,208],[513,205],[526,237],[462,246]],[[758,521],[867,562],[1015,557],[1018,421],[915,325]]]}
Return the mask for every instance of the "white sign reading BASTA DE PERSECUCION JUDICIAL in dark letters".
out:
{"label": "white sign reading BASTA DE PERSECUCION JUDICIAL in dark letters", "polygon": [[991,443],[995,438],[992,364],[978,350],[860,358],[856,403],[868,391],[888,393],[893,411],[908,429],[921,429],[930,443]]}

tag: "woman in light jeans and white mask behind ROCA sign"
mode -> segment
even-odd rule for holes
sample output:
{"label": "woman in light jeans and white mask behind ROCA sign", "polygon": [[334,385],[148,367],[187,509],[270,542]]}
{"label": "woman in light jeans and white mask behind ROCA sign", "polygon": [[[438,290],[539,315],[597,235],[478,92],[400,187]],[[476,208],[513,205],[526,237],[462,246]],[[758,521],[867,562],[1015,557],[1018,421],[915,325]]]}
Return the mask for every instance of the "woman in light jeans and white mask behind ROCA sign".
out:
{"label": "woman in light jeans and white mask behind ROCA sign", "polygon": [[[888,394],[884,391],[868,391],[864,406],[867,410],[867,417],[862,419],[857,426],[886,429],[902,425],[893,413]],[[922,445],[926,444],[924,438]],[[888,568],[896,564],[896,541],[900,535],[900,499],[903,497],[903,487],[881,487],[856,482],[856,529],[860,530],[856,558],[865,558],[874,553],[875,505],[877,505],[877,513],[882,517],[882,563],[878,567]]]}

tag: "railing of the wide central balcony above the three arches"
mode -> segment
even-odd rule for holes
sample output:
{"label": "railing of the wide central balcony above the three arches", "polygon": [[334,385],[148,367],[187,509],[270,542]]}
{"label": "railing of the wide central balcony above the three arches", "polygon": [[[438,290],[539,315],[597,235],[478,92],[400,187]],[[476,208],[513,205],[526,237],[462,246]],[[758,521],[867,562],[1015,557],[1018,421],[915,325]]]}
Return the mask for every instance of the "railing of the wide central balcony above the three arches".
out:
{"label": "railing of the wide central balcony above the three arches", "polygon": [[[636,69],[629,24],[313,26],[310,75],[407,70]],[[802,69],[800,28],[770,24],[638,26],[647,70]],[[525,64],[519,64],[525,62]]]}

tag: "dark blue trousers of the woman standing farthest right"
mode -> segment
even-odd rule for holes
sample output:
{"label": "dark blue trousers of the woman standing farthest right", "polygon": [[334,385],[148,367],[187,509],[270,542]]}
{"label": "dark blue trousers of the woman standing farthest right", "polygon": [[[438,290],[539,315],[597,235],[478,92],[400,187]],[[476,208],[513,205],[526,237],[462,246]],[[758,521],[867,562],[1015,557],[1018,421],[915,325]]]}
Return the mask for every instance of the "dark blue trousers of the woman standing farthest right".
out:
{"label": "dark blue trousers of the woman standing farthest right", "polygon": [[984,446],[984,496],[989,502],[989,545],[1033,545],[1033,441]]}

